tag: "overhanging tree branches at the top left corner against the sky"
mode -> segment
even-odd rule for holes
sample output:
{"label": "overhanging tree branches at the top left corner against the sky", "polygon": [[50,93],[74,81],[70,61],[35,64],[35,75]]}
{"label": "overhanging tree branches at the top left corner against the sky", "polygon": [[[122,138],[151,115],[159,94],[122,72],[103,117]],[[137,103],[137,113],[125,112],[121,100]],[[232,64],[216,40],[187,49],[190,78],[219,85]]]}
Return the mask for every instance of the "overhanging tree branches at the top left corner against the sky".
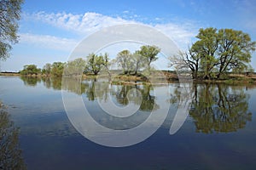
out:
{"label": "overhanging tree branches at the top left corner against the sky", "polygon": [[18,42],[22,3],[23,0],[0,0],[0,59],[7,59],[11,44]]}

